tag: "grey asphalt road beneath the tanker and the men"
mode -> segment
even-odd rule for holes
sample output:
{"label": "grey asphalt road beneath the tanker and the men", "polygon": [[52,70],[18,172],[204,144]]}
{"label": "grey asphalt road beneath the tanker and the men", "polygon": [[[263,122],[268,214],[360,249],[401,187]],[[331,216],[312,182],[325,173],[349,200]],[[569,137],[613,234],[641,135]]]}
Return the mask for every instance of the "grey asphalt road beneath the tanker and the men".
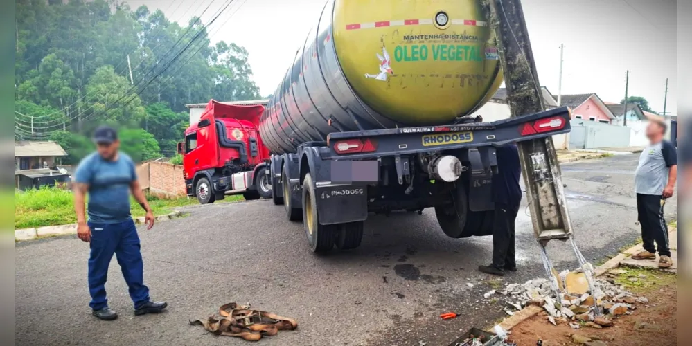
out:
{"label": "grey asphalt road beneath the tanker and the men", "polygon": [[[576,242],[587,260],[603,260],[639,236],[632,192],[637,155],[562,165]],[[524,201],[524,206],[525,206]],[[666,206],[677,214],[674,199]],[[271,201],[189,208],[190,216],[141,229],[145,283],[169,309],[132,314],[116,260],[109,305],[120,313],[102,322],[89,313],[88,246],[76,237],[19,243],[15,250],[17,345],[241,345],[188,320],[227,302],[296,318],[263,345],[447,345],[470,327],[502,317],[502,303],[483,302],[496,282],[476,271],[491,255],[491,237],[449,239],[434,211],[373,216],[355,251],[313,255],[303,226]],[[517,219],[520,271],[504,282],[544,275],[529,211]],[[551,242],[558,270],[574,268],[571,249]],[[473,284],[470,288],[467,283]],[[442,321],[446,311],[459,318]]]}

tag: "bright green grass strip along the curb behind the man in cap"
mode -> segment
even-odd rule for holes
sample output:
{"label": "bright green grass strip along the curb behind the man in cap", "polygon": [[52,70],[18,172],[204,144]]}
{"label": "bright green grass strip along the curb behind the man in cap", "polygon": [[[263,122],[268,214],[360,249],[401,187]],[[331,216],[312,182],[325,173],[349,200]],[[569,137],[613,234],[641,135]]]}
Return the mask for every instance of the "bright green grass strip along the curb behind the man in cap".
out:
{"label": "bright green grass strip along the curb behind the man in cap", "polygon": [[[144,216],[144,210],[132,197],[130,199],[132,217]],[[187,197],[161,199],[148,195],[147,200],[154,211],[154,215],[168,214],[175,207],[198,203],[197,199],[188,199]],[[77,217],[74,212],[71,191],[56,188],[15,191],[15,229],[73,224],[75,222],[77,222]]]}

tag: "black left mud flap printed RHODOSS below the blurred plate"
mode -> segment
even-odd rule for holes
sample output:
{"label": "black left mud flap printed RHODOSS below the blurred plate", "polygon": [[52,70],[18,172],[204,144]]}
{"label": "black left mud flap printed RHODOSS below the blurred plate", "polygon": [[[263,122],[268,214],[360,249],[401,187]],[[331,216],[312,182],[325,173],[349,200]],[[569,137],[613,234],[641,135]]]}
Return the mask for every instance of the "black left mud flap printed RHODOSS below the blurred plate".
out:
{"label": "black left mud flap printed RHODOSS below the blurred plate", "polygon": [[317,186],[315,194],[320,224],[344,224],[368,217],[367,185]]}

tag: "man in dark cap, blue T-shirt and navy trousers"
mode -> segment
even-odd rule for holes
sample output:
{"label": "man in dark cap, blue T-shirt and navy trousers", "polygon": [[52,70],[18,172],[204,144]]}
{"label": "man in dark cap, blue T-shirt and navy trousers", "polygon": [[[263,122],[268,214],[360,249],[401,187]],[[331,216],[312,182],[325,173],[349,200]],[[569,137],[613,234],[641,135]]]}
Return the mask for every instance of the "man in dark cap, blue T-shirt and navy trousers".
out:
{"label": "man in dark cap, blue T-shirt and navy trousers", "polygon": [[[77,235],[89,243],[89,307],[101,320],[114,320],[118,314],[108,307],[106,277],[113,254],[123,270],[134,302],[134,314],[157,313],[166,302],[152,302],[143,284],[139,235],[130,215],[130,192],[147,214],[147,229],[154,226],[154,213],[137,182],[132,159],[118,152],[118,134],[110,127],[94,132],[97,152],[85,157],[74,174]],[[89,221],[85,217],[85,196],[89,194]]]}

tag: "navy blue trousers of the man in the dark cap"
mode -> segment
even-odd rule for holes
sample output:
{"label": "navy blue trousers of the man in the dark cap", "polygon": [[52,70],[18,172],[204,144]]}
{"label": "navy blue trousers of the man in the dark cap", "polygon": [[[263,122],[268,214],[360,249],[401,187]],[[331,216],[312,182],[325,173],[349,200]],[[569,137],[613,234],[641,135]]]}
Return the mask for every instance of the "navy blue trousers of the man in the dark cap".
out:
{"label": "navy blue trousers of the man in the dark cap", "polygon": [[123,277],[130,289],[135,309],[149,301],[149,289],[143,284],[143,262],[139,251],[139,235],[134,221],[129,219],[118,224],[94,224],[91,228],[89,248],[89,307],[94,310],[107,307],[106,278],[108,266],[115,253]]}

